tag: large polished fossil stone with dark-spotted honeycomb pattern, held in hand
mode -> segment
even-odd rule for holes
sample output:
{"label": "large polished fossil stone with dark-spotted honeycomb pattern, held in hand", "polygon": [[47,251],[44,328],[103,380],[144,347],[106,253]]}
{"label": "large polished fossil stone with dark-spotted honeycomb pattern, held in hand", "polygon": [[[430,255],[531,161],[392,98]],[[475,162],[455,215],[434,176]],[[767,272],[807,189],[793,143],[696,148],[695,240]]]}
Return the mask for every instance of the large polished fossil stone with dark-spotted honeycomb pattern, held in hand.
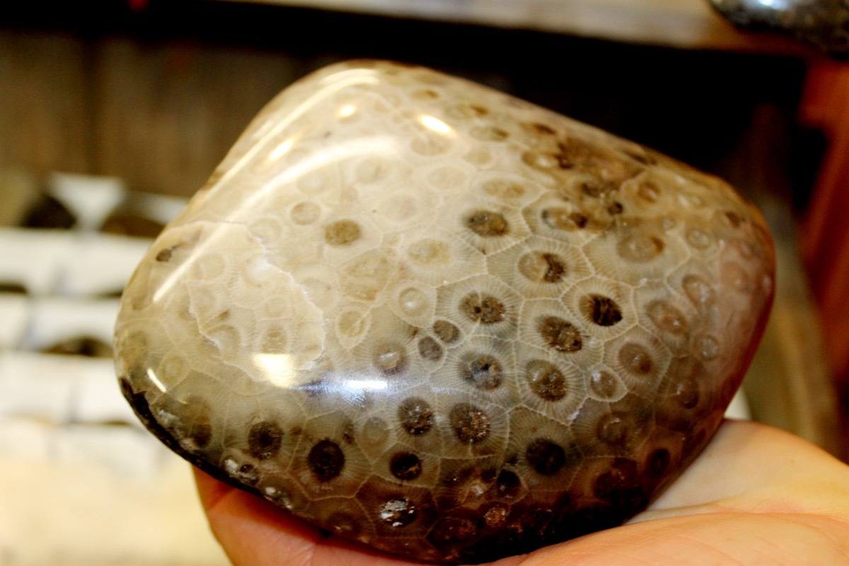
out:
{"label": "large polished fossil stone with dark-spotted honeycomb pattern, held in hand", "polygon": [[728,185],[432,70],[261,111],[127,287],[121,387],[206,472],[387,552],[620,524],[704,447],[773,295]]}

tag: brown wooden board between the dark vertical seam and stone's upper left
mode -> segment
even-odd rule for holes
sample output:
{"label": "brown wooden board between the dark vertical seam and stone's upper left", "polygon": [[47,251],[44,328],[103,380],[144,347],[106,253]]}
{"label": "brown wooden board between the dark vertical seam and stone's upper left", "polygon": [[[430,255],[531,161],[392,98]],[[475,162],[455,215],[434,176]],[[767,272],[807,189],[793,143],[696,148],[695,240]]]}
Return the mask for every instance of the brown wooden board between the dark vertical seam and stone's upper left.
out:
{"label": "brown wooden board between the dark vertical seam and stone's upper left", "polygon": [[95,169],[190,195],[256,112],[298,76],[284,55],[110,38],[94,72]]}

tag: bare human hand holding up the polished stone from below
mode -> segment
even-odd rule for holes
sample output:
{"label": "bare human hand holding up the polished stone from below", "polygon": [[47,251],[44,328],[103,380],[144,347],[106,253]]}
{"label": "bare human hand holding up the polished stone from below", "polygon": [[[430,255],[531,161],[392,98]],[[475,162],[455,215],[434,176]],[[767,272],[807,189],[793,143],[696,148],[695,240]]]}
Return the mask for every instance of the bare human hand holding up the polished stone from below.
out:
{"label": "bare human hand holding up the polished stone from below", "polygon": [[[212,532],[236,566],[407,566],[302,523],[195,469]],[[726,421],[647,510],[615,529],[498,566],[849,564],[849,466],[806,441]]]}

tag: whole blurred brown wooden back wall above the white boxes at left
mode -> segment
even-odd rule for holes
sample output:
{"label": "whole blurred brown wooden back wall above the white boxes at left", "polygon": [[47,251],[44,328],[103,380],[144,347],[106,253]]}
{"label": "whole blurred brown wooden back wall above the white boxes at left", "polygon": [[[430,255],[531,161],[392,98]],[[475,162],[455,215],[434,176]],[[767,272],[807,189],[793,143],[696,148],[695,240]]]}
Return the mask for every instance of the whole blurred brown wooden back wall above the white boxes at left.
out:
{"label": "whole blurred brown wooden back wall above the white boxes at left", "polygon": [[305,70],[284,53],[0,31],[0,168],[114,175],[190,195]]}

